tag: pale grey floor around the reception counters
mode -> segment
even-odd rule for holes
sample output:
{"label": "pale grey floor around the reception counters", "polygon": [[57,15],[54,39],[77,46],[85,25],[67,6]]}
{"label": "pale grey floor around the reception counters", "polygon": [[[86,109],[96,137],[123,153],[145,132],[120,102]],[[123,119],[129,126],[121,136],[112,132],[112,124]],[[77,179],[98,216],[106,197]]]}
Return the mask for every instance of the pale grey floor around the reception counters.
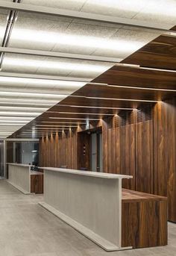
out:
{"label": "pale grey floor around the reception counters", "polygon": [[0,256],[176,255],[176,225],[169,223],[169,246],[104,252],[37,205],[43,196],[25,196],[0,181]]}

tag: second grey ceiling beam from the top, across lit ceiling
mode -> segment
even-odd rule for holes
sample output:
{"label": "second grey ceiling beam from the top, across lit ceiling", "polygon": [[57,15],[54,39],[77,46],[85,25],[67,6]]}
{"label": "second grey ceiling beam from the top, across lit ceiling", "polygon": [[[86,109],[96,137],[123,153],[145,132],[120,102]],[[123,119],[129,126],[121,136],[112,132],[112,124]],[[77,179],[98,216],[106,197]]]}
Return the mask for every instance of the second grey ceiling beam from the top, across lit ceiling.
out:
{"label": "second grey ceiling beam from the top, across lit ceiling", "polygon": [[118,63],[123,60],[122,58],[116,58],[116,57],[101,57],[101,56],[93,56],[93,55],[85,55],[85,54],[70,54],[70,53],[58,52],[58,51],[40,51],[40,50],[19,49],[19,48],[11,48],[11,47],[0,47],[0,52],[47,56],[47,57],[63,57],[63,58],[78,59],[78,60],[95,60],[95,61],[111,62],[111,63]]}

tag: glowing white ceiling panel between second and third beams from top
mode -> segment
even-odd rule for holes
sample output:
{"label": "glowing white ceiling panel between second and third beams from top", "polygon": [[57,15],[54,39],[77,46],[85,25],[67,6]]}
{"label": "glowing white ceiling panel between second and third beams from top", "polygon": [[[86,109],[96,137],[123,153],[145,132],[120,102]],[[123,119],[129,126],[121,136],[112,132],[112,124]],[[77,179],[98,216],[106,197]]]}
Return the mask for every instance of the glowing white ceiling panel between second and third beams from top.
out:
{"label": "glowing white ceiling panel between second and third beams from top", "polygon": [[95,78],[111,66],[112,63],[103,63],[92,60],[74,60],[25,54],[5,54],[1,71]]}

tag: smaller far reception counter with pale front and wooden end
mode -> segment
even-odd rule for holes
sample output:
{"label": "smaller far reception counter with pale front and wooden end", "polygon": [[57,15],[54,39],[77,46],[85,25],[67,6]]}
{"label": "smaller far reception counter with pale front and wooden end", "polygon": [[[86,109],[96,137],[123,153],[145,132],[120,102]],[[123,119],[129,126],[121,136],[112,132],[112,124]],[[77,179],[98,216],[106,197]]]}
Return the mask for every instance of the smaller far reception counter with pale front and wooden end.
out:
{"label": "smaller far reception counter with pale front and wooden end", "polygon": [[43,193],[43,172],[31,171],[31,165],[24,163],[7,163],[7,182],[25,195]]}

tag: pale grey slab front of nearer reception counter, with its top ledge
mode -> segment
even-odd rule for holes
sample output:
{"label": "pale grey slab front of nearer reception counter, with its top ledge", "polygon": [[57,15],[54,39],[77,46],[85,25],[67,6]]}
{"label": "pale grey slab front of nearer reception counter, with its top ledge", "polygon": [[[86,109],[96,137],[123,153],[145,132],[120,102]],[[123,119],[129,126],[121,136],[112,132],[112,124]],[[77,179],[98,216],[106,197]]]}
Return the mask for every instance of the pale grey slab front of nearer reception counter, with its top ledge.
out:
{"label": "pale grey slab front of nearer reception counter, with its top ledge", "polygon": [[64,222],[107,251],[122,249],[122,179],[128,175],[44,169],[44,202]]}

